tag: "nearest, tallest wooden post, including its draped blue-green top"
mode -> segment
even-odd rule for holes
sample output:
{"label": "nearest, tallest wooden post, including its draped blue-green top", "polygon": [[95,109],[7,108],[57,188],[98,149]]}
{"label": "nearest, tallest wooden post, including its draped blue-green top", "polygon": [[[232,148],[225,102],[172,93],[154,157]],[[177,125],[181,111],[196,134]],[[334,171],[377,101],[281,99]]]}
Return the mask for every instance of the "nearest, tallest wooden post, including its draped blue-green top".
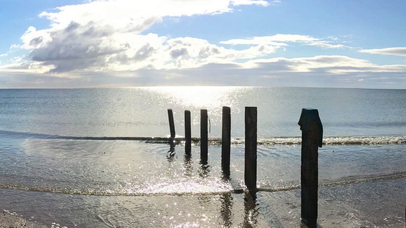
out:
{"label": "nearest, tallest wooden post, including its draped blue-green top", "polygon": [[302,109],[298,124],[302,130],[301,218],[317,226],[318,147],[322,147],[323,126],[317,109]]}

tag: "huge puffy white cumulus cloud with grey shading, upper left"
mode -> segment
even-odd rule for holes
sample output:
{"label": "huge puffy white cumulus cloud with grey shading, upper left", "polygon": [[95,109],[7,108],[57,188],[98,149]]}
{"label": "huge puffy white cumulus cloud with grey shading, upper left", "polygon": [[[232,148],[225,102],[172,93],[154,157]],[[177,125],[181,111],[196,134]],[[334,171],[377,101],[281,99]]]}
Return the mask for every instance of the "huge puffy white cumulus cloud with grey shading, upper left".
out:
{"label": "huge puffy white cumulus cloud with grey shading, upper left", "polygon": [[[39,64],[38,72],[74,70],[134,70],[193,67],[208,61],[225,62],[255,58],[278,47],[258,45],[244,50],[225,49],[193,38],[168,39],[140,34],[162,18],[231,12],[237,5],[267,6],[263,0],[97,0],[57,8],[39,16],[51,21],[50,28],[29,27],[19,47]],[[159,6],[159,7],[157,7]]]}

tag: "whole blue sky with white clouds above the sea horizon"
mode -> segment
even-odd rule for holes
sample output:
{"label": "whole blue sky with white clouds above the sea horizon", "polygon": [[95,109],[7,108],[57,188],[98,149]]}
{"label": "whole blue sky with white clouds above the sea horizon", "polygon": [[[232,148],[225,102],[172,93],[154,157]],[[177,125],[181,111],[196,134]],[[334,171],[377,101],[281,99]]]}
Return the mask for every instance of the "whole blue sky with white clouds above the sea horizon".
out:
{"label": "whole blue sky with white clouds above the sea horizon", "polygon": [[0,1],[0,88],[406,89],[404,0]]}

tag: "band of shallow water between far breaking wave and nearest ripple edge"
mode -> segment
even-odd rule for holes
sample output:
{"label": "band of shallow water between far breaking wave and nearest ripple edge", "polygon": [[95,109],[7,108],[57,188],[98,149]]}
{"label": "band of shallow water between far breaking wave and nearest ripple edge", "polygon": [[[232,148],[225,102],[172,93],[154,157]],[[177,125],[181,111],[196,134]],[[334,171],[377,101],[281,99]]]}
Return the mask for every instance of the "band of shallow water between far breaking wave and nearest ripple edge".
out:
{"label": "band of shallow water between far breaking wave and nearest ripple edge", "polygon": [[[244,145],[231,147],[231,181],[224,181],[220,146],[210,146],[208,164],[200,164],[200,147],[195,145],[189,154],[184,145],[143,141],[0,143],[8,143],[0,154],[4,187],[103,195],[212,194],[244,188]],[[319,183],[404,177],[404,149],[404,144],[324,146],[319,149]],[[257,159],[258,188],[299,187],[300,146],[259,146]]]}

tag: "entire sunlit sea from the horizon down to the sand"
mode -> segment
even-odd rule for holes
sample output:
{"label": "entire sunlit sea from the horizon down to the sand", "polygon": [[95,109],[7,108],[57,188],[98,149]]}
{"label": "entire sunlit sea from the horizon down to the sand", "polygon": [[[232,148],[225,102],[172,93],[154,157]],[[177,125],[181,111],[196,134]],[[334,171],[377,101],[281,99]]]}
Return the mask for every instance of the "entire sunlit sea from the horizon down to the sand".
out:
{"label": "entire sunlit sea from the horizon down to the sand", "polygon": [[[231,166],[221,170],[222,107]],[[257,188],[244,185],[244,107],[257,107]],[[0,209],[53,227],[306,227],[302,108],[318,109],[323,228],[405,227],[406,90],[305,87],[0,89]],[[173,110],[177,143],[170,136]],[[185,153],[184,111],[209,155]]]}

